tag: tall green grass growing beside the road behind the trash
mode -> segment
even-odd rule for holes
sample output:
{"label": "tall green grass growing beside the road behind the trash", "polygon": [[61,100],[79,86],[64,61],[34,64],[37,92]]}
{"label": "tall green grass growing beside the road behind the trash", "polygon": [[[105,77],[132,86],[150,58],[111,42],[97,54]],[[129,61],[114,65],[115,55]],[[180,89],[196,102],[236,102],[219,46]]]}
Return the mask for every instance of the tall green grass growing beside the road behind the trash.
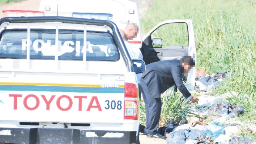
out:
{"label": "tall green grass growing beside the road behind the trash", "polygon": [[[235,91],[238,95],[229,98],[229,102],[243,105],[244,114],[240,119],[252,121],[256,120],[255,8],[254,0],[155,0],[142,17],[141,26],[146,33],[165,20],[192,19],[196,68],[208,73],[228,71],[229,76],[213,95]],[[163,113],[161,118],[176,117],[178,113],[181,111]]]}

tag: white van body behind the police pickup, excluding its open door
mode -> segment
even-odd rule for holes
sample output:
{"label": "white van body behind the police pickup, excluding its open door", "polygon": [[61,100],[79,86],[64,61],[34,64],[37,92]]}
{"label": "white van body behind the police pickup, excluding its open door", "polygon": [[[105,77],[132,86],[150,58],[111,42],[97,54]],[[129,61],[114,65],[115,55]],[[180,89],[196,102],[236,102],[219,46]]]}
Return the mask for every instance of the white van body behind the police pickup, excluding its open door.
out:
{"label": "white van body behind the police pickup, excluding its open door", "polygon": [[[123,30],[132,22],[140,29],[137,4],[129,0],[41,0],[39,11],[45,16],[108,19]],[[129,43],[141,48],[141,31]]]}

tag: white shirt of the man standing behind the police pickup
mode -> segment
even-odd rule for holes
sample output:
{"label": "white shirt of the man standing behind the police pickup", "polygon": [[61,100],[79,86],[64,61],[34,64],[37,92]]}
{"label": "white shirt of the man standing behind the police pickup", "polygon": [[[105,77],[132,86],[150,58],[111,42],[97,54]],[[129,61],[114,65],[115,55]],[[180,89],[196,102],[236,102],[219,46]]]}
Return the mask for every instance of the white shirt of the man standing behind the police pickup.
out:
{"label": "white shirt of the man standing behind the police pickup", "polygon": [[[142,53],[141,53],[139,48],[133,47],[133,45],[129,44],[128,41],[125,41],[124,44],[125,44],[125,46],[126,46],[126,48],[128,50],[128,53],[129,53],[131,59],[143,60],[143,56],[142,56]],[[138,83],[140,83],[141,75],[142,75],[142,73],[136,74]]]}

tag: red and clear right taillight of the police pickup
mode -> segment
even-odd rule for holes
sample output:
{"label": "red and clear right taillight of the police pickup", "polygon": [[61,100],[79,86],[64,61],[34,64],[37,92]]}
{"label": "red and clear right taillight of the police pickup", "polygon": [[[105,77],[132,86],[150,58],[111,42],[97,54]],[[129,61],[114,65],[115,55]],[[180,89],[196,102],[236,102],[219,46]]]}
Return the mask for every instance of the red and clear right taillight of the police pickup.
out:
{"label": "red and clear right taillight of the police pickup", "polygon": [[124,84],[124,119],[138,119],[138,87],[136,84]]}

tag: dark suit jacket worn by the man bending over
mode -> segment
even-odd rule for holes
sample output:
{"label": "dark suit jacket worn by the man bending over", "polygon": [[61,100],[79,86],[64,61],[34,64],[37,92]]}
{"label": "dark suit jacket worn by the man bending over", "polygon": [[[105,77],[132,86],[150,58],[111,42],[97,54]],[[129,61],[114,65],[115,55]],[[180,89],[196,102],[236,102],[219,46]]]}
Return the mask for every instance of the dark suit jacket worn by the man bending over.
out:
{"label": "dark suit jacket worn by the man bending over", "polygon": [[146,71],[141,76],[148,91],[154,98],[160,98],[161,94],[176,85],[180,92],[188,98],[191,94],[183,84],[184,68],[180,60],[162,60],[146,65]]}

